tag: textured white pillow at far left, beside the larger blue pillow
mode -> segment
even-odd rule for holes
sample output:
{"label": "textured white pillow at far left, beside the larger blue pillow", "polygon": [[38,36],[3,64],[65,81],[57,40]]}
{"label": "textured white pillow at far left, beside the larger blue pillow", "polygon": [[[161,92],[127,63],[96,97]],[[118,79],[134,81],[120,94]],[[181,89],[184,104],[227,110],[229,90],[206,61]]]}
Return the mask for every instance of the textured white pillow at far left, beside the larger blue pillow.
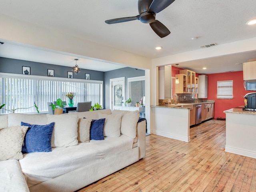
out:
{"label": "textured white pillow at far left, beside the larger blue pillow", "polygon": [[13,126],[0,130],[0,161],[22,159],[21,152],[28,126]]}

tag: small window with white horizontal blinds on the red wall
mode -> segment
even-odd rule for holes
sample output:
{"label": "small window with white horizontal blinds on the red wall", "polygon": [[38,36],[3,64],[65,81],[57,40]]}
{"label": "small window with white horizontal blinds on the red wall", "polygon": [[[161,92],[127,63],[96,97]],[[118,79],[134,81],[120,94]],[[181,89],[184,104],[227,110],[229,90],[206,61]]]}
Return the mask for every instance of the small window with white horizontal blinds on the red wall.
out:
{"label": "small window with white horizontal blinds on the red wall", "polygon": [[217,81],[217,99],[233,98],[233,80]]}

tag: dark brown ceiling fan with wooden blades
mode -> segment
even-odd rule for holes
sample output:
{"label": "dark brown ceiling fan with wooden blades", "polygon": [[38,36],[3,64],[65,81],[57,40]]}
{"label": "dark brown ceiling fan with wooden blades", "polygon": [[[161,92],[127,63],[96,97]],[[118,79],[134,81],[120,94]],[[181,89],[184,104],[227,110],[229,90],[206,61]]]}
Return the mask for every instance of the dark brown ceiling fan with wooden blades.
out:
{"label": "dark brown ceiling fan with wooden blades", "polygon": [[174,1],[175,0],[138,0],[139,15],[135,17],[110,19],[106,20],[105,23],[114,24],[133,20],[140,20],[142,23],[149,23],[150,27],[154,30],[154,32],[158,36],[160,36],[160,38],[163,38],[171,32],[166,26],[164,26],[164,24],[156,20],[156,13],[164,10]]}

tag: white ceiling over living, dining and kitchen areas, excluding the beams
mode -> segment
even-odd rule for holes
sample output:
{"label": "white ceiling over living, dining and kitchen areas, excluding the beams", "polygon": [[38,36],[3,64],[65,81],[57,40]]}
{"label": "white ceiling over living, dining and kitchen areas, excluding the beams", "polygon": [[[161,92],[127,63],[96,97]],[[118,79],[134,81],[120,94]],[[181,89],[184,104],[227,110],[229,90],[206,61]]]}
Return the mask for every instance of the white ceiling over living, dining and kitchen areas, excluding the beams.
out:
{"label": "white ceiling over living, dining and kitchen areas, excluding the beams", "polygon": [[[149,24],[138,20],[111,25],[104,22],[138,15],[138,0],[0,0],[0,4],[0,14],[148,58],[256,37],[256,25],[245,24],[256,18],[256,0],[175,0],[156,15],[171,32],[165,38],[158,37]],[[155,46],[163,49],[155,50]],[[79,67],[100,71],[124,67],[15,42],[0,45],[0,56],[63,66],[73,66],[74,58],[78,58]],[[237,71],[242,70],[238,63],[252,58],[256,58],[256,52],[180,63],[179,67],[201,74],[205,73],[204,66],[208,74]]]}

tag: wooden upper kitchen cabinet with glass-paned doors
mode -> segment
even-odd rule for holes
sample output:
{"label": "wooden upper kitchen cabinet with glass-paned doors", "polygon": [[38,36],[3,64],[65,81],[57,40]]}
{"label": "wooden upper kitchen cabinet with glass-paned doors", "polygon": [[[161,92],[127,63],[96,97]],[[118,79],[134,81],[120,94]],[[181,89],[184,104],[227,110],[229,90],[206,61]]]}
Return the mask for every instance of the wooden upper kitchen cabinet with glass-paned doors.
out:
{"label": "wooden upper kitchen cabinet with glass-paned doors", "polygon": [[186,93],[196,93],[196,87],[198,87],[198,83],[196,84],[196,72],[184,69],[180,70],[180,74],[187,75]]}

